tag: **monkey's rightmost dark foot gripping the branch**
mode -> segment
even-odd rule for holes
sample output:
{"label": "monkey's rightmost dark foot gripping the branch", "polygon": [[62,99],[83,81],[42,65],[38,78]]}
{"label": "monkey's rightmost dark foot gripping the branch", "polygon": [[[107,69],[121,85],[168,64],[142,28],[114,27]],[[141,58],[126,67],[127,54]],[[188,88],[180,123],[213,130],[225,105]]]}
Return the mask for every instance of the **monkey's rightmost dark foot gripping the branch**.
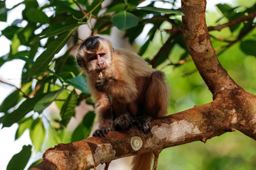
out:
{"label": "monkey's rightmost dark foot gripping the branch", "polygon": [[147,133],[151,130],[151,119],[152,118],[149,115],[142,115],[134,121],[134,124],[137,125],[139,130],[142,130],[142,132]]}

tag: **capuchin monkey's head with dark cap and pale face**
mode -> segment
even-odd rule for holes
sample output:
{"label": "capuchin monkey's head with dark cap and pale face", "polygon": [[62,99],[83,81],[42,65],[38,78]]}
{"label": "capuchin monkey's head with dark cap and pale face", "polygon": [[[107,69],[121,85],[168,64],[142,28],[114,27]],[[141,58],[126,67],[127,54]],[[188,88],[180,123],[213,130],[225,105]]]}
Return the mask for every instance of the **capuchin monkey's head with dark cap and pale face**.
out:
{"label": "capuchin monkey's head with dark cap and pale face", "polygon": [[78,65],[87,73],[99,73],[110,66],[113,47],[109,40],[93,36],[87,38],[78,49]]}

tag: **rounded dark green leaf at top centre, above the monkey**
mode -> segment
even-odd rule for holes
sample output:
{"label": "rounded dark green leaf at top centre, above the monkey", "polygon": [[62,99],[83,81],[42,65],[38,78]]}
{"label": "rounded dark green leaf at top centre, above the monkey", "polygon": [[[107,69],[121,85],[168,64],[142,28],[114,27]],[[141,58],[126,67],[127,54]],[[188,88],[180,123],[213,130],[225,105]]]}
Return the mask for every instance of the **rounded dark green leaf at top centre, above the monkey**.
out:
{"label": "rounded dark green leaf at top centre, above the monkey", "polygon": [[111,18],[111,21],[119,30],[127,30],[129,28],[133,28],[139,23],[137,16],[134,16],[134,14],[127,11],[121,11],[114,14],[114,16]]}

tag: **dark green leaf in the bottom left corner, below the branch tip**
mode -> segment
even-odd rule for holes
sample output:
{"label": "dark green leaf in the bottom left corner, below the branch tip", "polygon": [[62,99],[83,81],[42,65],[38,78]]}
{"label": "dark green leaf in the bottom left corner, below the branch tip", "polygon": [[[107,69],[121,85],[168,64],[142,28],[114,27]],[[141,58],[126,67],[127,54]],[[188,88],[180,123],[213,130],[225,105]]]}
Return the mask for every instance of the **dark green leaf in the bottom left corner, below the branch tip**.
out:
{"label": "dark green leaf in the bottom left corner, below the branch tip", "polygon": [[21,152],[14,154],[14,157],[11,158],[6,170],[24,169],[28,163],[29,158],[31,157],[31,148],[31,145],[24,145],[21,149]]}

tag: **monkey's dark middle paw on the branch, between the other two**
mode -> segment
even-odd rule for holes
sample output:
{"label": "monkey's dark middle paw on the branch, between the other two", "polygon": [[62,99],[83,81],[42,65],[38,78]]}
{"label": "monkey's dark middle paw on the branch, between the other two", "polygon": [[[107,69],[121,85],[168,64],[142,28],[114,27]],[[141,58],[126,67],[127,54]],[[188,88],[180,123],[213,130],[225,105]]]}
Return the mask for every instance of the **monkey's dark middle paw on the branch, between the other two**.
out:
{"label": "monkey's dark middle paw on the branch, between the other two", "polygon": [[114,130],[128,130],[132,127],[132,118],[128,114],[119,115],[114,120]]}

